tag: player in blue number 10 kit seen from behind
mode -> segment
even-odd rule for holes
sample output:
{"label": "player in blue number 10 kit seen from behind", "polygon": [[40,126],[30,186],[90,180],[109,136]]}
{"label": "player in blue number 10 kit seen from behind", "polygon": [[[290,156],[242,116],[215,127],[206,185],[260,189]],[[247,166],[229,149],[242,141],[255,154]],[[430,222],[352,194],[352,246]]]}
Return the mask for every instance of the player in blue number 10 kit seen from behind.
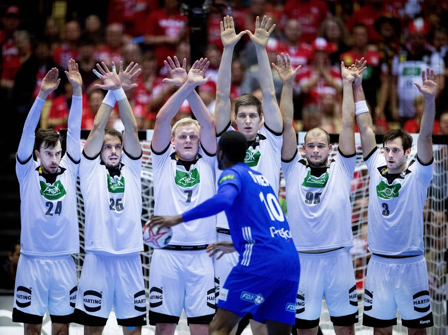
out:
{"label": "player in blue number 10 kit seen from behind", "polygon": [[244,164],[246,137],[225,132],[218,143],[224,169],[218,193],[176,216],[153,216],[150,226],[169,227],[225,211],[232,242],[207,247],[210,256],[238,251],[238,264],[220,290],[210,334],[229,334],[246,313],[265,323],[268,334],[289,335],[296,318],[299,257],[277,195],[264,176]]}

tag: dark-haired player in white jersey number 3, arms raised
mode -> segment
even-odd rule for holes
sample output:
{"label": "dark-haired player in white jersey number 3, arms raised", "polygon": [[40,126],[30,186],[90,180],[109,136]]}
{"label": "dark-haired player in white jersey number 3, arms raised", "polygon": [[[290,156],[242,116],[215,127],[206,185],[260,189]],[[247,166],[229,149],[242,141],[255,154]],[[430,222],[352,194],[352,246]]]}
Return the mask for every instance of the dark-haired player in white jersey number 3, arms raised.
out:
{"label": "dark-haired player in white jersey number 3, arms raised", "polygon": [[354,83],[356,121],[369,172],[367,265],[362,324],[374,333],[392,335],[400,310],[408,334],[426,334],[434,325],[423,245],[423,207],[433,176],[432,132],[437,74],[426,68],[422,83],[424,111],[417,137],[416,160],[407,164],[412,136],[393,129],[383,136],[384,153],[377,147],[372,117],[365,104],[361,78]]}

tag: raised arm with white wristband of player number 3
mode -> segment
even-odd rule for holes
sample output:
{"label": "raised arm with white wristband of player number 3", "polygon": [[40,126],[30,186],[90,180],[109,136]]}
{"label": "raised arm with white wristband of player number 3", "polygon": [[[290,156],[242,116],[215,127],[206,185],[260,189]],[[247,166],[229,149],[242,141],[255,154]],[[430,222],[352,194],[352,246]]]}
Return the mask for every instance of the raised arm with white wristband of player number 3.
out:
{"label": "raised arm with white wristband of player number 3", "polygon": [[[361,58],[361,61],[364,61],[364,58]],[[356,60],[352,68],[360,69],[363,64],[361,61]],[[361,136],[362,154],[366,157],[377,146],[377,143],[372,126],[372,116],[365,103],[364,90],[362,89],[362,73],[359,74],[357,71],[354,71],[353,75],[356,77],[353,82],[355,115],[358,114],[356,115],[356,122]]]}

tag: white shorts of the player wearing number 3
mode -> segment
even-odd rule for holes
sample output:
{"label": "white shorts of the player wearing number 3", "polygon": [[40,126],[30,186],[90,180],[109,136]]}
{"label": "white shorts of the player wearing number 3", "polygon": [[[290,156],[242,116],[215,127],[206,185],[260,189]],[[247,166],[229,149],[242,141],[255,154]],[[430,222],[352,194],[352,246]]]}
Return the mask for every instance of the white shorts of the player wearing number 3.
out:
{"label": "white shorts of the player wearing number 3", "polygon": [[433,325],[426,260],[423,255],[389,259],[373,254],[367,265],[362,324],[396,325],[397,309],[405,327]]}

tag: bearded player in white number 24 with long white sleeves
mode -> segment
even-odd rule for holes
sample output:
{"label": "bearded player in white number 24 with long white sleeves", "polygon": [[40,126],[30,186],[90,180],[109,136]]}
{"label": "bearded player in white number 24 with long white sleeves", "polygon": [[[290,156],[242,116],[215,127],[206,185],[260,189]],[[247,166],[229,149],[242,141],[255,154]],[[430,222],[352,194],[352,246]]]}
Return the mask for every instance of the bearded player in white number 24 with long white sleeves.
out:
{"label": "bearded player in white number 24 with long white sleeves", "polygon": [[73,86],[66,153],[62,154],[61,136],[53,129],[34,133],[45,100],[61,81],[59,71],[52,68],[28,113],[16,155],[22,230],[12,321],[23,323],[25,334],[41,333],[47,309],[54,334],[68,334],[69,323],[74,322],[77,276],[71,255],[80,251],[76,178],[83,98],[82,78],[74,60],[69,60],[65,74]]}

